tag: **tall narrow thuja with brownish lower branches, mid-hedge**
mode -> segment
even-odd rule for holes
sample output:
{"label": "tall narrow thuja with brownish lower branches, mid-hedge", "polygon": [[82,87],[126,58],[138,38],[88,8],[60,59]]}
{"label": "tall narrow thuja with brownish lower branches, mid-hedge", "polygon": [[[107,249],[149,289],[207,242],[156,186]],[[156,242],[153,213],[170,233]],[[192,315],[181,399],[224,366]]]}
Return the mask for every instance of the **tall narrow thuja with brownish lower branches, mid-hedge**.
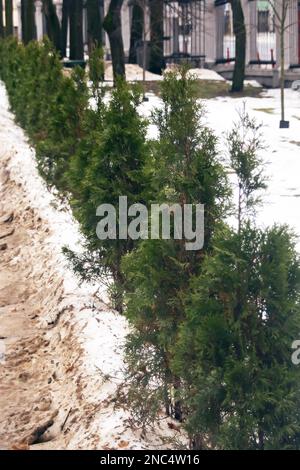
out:
{"label": "tall narrow thuja with brownish lower branches, mid-hedge", "polygon": [[[137,420],[155,418],[163,405],[183,419],[181,377],[172,361],[179,328],[185,322],[190,278],[201,272],[211,238],[226,214],[229,193],[217,154],[217,139],[203,123],[196,80],[186,69],[166,74],[162,106],[153,113],[158,139],[152,143],[152,199],[156,203],[205,204],[205,245],[187,251],[185,240],[146,240],[123,259],[128,338],[128,397]],[[149,398],[150,401],[149,401]],[[145,411],[148,409],[148,412]]]}

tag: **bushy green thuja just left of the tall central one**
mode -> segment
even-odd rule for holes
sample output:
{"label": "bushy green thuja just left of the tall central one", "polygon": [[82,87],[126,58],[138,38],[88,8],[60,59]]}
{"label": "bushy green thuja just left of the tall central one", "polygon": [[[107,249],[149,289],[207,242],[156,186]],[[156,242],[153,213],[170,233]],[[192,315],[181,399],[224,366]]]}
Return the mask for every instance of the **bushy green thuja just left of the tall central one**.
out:
{"label": "bushy green thuja just left of the tall central one", "polygon": [[[146,142],[147,122],[138,114],[140,90],[119,81],[111,92],[110,101],[90,110],[87,122],[90,132],[81,140],[70,167],[71,204],[86,240],[86,252],[79,258],[70,254],[77,269],[85,276],[107,282],[111,277],[115,305],[122,309],[123,276],[120,269],[122,256],[133,249],[135,242],[125,240],[99,240],[96,234],[99,218],[97,207],[111,204],[118,209],[119,197],[126,196],[128,205],[147,201],[147,174],[149,155]],[[117,210],[117,226],[119,216]],[[118,236],[117,236],[118,238]]]}

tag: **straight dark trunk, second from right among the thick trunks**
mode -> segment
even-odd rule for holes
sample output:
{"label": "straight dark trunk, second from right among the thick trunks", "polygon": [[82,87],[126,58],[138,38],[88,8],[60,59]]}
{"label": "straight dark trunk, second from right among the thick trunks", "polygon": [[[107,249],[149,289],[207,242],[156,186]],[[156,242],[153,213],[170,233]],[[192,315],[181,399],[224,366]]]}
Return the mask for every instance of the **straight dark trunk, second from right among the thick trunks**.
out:
{"label": "straight dark trunk, second from right among the thick trunks", "polygon": [[161,74],[165,67],[164,61],[164,1],[150,2],[150,72]]}

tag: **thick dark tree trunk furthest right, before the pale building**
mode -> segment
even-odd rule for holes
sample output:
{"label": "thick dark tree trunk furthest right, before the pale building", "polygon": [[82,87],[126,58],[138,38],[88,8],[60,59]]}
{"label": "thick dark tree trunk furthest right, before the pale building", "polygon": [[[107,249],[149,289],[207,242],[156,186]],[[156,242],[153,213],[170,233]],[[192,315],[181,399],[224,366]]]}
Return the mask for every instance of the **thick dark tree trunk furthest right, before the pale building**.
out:
{"label": "thick dark tree trunk furthest right, before the pale building", "polygon": [[235,35],[235,65],[232,80],[232,92],[243,91],[246,63],[246,27],[241,0],[230,0],[233,13],[233,31]]}

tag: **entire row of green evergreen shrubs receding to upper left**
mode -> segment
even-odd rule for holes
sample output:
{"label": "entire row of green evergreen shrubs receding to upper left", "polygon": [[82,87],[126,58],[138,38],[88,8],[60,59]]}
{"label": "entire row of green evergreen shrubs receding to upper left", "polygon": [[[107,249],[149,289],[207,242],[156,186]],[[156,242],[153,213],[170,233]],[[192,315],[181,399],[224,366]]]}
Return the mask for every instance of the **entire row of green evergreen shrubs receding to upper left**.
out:
{"label": "entire row of green evergreen shrubs receding to upper left", "polygon": [[[243,112],[228,136],[234,204],[197,81],[185,69],[166,74],[149,120],[138,111],[137,87],[105,89],[100,51],[89,69],[89,77],[81,69],[65,76],[47,40],[0,42],[11,108],[85,235],[84,254],[66,254],[83,279],[112,277],[116,306],[132,325],[121,398],[143,425],[163,407],[195,449],[299,449],[291,345],[300,331],[300,264],[287,227],[255,225],[265,187],[259,127]],[[186,251],[175,239],[100,241],[96,208],[117,207],[119,196],[129,205],[205,204],[203,250]]]}

